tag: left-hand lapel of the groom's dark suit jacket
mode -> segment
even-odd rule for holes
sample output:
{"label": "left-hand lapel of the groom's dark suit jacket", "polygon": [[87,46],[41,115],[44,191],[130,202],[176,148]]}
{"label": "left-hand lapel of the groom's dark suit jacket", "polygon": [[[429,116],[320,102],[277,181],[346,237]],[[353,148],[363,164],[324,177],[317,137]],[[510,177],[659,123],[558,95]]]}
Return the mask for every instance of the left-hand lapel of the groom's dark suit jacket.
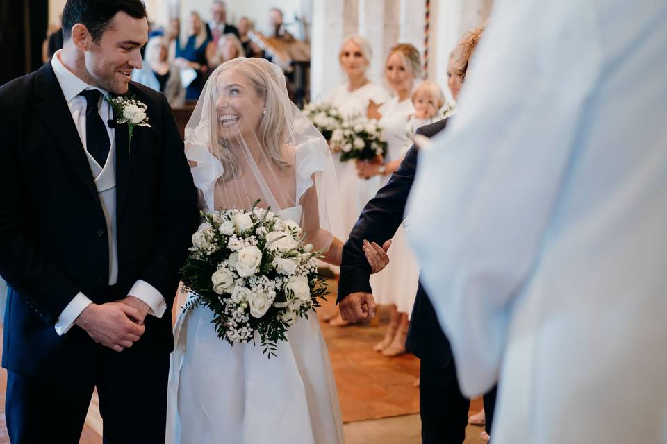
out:
{"label": "left-hand lapel of the groom's dark suit jacket", "polygon": [[51,68],[51,62],[38,70],[35,79],[35,94],[44,99],[36,105],[44,126],[48,128],[56,145],[67,155],[77,175],[83,180],[85,188],[95,199],[98,199],[97,187],[95,187],[90,171],[88,158],[85,156],[83,144],[81,144],[79,132],[72,120],[72,113],[63,96],[63,90],[60,89],[56,74]]}

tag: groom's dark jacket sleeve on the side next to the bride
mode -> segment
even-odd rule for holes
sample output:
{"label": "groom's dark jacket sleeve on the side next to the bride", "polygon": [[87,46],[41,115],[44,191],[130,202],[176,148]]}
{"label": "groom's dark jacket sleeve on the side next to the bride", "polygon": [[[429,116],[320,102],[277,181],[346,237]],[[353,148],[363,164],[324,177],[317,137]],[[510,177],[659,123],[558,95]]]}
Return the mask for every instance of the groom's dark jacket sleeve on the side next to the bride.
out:
{"label": "groom's dark jacket sleeve on the side next to the bride", "polygon": [[158,242],[153,257],[139,278],[155,287],[165,298],[167,307],[171,307],[179,280],[178,271],[188,255],[199,212],[197,191],[183,150],[183,139],[165,96],[162,96],[162,107],[164,147],[158,185]]}

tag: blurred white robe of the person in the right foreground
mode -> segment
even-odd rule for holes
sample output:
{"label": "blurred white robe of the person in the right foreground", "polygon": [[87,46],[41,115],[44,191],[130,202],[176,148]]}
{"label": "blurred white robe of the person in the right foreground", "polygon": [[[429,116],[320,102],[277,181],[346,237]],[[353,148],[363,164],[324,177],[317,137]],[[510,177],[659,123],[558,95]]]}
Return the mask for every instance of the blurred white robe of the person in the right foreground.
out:
{"label": "blurred white robe of the person in the right foreground", "polygon": [[497,0],[408,212],[495,444],[667,443],[667,3]]}

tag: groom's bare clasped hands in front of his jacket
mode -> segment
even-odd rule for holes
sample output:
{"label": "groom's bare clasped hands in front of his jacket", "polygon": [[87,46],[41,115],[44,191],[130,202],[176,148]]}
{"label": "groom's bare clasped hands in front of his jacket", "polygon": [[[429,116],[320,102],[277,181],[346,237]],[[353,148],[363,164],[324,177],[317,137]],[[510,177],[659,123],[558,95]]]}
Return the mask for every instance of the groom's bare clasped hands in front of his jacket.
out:
{"label": "groom's bare clasped hands in front of his jacket", "polygon": [[149,307],[134,296],[106,304],[90,304],[74,322],[93,341],[116,352],[131,347],[144,334]]}

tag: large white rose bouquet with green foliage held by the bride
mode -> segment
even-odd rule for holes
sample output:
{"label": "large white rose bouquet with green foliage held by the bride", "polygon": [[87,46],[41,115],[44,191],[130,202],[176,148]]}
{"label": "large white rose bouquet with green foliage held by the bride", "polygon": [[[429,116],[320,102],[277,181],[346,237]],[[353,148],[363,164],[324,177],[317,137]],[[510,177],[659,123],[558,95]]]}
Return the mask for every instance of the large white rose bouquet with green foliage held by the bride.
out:
{"label": "large white rose bouquet with green foliage held by the bride", "polygon": [[275,356],[288,327],[319,307],[327,292],[318,275],[320,252],[304,245],[305,232],[271,210],[204,212],[192,235],[181,277],[195,295],[184,309],[213,311],[217,336],[229,344],[261,340]]}

